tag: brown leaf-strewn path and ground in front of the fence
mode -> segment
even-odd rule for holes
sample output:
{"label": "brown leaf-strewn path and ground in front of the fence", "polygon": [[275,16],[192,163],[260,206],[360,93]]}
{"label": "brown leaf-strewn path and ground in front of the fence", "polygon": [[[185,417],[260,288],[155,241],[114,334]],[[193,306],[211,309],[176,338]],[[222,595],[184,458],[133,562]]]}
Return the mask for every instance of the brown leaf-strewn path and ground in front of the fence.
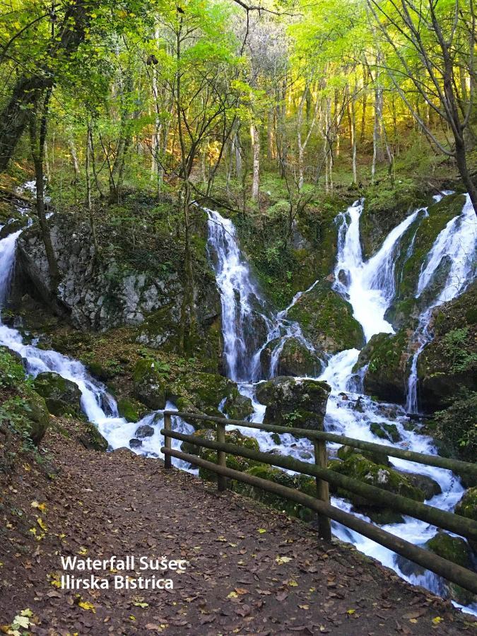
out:
{"label": "brown leaf-strewn path and ground in front of the fence", "polygon": [[[475,633],[469,615],[350,546],[157,459],[88,450],[57,421],[70,435],[47,432],[47,462],[19,457],[0,476],[0,632],[23,612],[22,634],[61,636]],[[169,591],[66,590],[60,555],[188,566],[165,575]]]}

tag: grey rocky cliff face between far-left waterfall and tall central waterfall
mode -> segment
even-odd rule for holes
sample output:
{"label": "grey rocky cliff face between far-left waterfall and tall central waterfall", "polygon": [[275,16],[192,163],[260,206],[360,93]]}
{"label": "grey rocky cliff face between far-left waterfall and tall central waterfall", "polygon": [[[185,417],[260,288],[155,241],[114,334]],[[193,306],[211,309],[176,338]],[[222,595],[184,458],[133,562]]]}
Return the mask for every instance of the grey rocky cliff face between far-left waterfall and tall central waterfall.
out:
{"label": "grey rocky cliff face between far-left waterfall and tall central waterfall", "polygon": [[[104,331],[122,324],[140,325],[154,312],[162,312],[159,321],[145,325],[139,334],[141,343],[157,347],[175,335],[182,302],[178,271],[145,272],[124,266],[114,257],[95,258],[88,224],[75,225],[69,216],[61,215],[50,223],[63,274],[59,299],[74,326]],[[33,289],[37,298],[52,305],[45,248],[36,227],[20,236],[17,263],[16,287]],[[220,298],[212,276],[202,276],[198,287],[198,326],[207,331],[220,315]]]}

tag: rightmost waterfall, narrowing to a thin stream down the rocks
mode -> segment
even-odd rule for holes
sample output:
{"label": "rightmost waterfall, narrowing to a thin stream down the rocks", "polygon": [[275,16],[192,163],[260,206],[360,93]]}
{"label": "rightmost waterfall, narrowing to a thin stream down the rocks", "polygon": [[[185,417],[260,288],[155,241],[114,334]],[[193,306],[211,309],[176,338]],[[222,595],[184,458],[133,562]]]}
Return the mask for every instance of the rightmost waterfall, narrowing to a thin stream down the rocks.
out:
{"label": "rightmost waterfall, narrowing to a thin stream down the rocks", "polygon": [[477,216],[473,210],[471,198],[469,194],[466,194],[461,214],[449,220],[445,228],[437,235],[420,271],[416,290],[417,299],[421,298],[423,292],[428,289],[440,265],[444,261],[449,264],[446,281],[435,298],[428,301],[421,312],[414,334],[417,346],[411,360],[411,372],[408,378],[406,398],[408,413],[418,413],[418,359],[425,346],[432,340],[430,322],[433,310],[443,302],[457,298],[473,281],[476,276],[476,254]]}

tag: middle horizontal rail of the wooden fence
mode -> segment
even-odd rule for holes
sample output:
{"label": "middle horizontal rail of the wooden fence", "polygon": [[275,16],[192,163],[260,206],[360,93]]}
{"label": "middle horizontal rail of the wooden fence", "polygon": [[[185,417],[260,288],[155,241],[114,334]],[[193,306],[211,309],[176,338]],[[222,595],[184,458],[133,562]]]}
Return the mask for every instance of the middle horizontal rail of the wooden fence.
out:
{"label": "middle horizontal rail of the wooden fence", "polygon": [[175,440],[194,444],[194,446],[206,447],[212,450],[225,452],[226,454],[237,455],[239,457],[259,461],[263,464],[280,466],[281,468],[295,471],[296,473],[310,475],[315,478],[318,477],[384,507],[391,507],[397,512],[408,514],[410,517],[420,519],[421,521],[432,524],[433,526],[438,526],[451,532],[455,532],[456,534],[461,534],[468,538],[477,540],[477,522],[473,521],[473,519],[461,517],[459,514],[447,512],[446,510],[439,510],[438,508],[409,499],[403,495],[395,495],[394,493],[390,493],[389,490],[377,488],[377,486],[363,483],[362,481],[358,481],[351,477],[346,477],[345,475],[341,475],[340,473],[336,473],[330,469],[316,466],[315,464],[309,464],[307,461],[300,461],[293,457],[271,455],[270,453],[264,453],[243,446],[237,446],[236,444],[214,442],[213,440],[206,440],[204,437],[185,435],[184,433],[172,430],[166,431],[165,429],[162,429],[160,432]]}

